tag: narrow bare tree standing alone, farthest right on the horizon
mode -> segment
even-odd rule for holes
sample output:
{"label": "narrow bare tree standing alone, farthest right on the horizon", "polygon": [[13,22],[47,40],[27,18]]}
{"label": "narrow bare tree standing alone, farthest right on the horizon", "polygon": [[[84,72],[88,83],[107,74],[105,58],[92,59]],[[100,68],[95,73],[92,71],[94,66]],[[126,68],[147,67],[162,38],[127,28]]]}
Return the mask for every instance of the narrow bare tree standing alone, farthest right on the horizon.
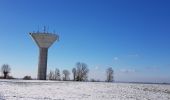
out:
{"label": "narrow bare tree standing alone, farthest right on the horizon", "polygon": [[107,70],[106,70],[106,76],[107,76],[107,79],[106,81],[107,82],[113,82],[114,81],[114,70],[109,67]]}

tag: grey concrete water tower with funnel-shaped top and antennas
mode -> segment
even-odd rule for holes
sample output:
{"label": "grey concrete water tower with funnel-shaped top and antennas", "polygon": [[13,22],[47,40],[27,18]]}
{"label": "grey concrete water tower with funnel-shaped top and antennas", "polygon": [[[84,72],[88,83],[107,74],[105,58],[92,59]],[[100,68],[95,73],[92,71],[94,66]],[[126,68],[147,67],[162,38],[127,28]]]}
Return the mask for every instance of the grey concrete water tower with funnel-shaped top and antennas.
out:
{"label": "grey concrete water tower with funnel-shaped top and antennas", "polygon": [[38,80],[46,80],[48,48],[57,40],[59,36],[54,33],[32,32],[29,33],[39,47]]}

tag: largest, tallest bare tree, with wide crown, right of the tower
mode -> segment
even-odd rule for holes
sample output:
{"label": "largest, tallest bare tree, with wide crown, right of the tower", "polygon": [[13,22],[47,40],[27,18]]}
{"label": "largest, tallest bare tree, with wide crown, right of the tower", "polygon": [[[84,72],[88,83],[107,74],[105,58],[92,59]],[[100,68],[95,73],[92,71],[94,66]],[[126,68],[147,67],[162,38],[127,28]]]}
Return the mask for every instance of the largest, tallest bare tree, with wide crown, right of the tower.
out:
{"label": "largest, tallest bare tree, with wide crown, right of the tower", "polygon": [[78,62],[76,64],[76,80],[77,81],[86,81],[88,76],[89,69],[85,63]]}

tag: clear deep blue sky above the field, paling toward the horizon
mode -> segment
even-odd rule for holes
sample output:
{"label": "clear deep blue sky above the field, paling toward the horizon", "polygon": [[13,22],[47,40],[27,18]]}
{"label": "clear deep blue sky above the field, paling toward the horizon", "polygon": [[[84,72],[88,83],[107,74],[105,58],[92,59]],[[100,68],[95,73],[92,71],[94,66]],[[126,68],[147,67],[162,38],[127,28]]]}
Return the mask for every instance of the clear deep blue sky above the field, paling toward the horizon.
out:
{"label": "clear deep blue sky above the field, paling toward the horizon", "polygon": [[113,67],[117,81],[170,82],[168,0],[1,0],[0,65],[14,77],[36,77],[38,47],[29,32],[60,35],[50,49],[48,71],[71,71],[84,62],[90,78],[105,80]]}

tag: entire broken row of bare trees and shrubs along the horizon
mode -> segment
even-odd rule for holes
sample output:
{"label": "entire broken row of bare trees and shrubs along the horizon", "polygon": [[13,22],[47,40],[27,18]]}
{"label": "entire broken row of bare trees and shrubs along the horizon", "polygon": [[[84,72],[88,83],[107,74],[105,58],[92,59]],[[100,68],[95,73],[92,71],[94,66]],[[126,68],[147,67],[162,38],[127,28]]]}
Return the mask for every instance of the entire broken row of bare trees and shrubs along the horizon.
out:
{"label": "entire broken row of bare trees and shrubs along the horizon", "polygon": [[[9,73],[11,72],[11,68],[8,64],[4,64],[1,67],[1,73],[3,74],[4,79],[10,78]],[[88,81],[88,73],[89,69],[87,64],[78,62],[76,63],[76,66],[72,68],[72,75],[73,80],[72,81]],[[31,76],[24,76],[23,79],[29,80],[32,79]],[[70,81],[70,72],[67,69],[64,69],[62,72],[58,68],[56,68],[54,71],[50,70],[50,72],[47,75],[48,80],[57,80],[57,81]],[[92,82],[100,81],[91,79]],[[106,69],[106,82],[113,82],[114,81],[114,70],[112,67],[109,67]]]}

